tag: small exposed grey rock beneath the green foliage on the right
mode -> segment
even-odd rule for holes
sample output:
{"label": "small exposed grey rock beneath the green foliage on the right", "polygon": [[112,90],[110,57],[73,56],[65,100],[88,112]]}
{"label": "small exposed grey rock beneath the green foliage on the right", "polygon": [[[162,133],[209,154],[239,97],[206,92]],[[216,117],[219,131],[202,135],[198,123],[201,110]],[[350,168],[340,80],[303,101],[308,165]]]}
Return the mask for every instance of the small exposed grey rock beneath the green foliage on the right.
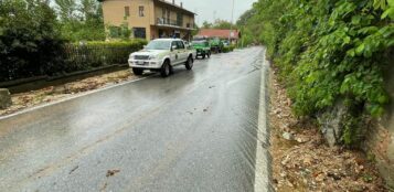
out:
{"label": "small exposed grey rock beneath the green foliage on the right", "polygon": [[321,134],[330,147],[334,147],[342,141],[343,120],[348,110],[348,107],[340,100],[337,102],[331,110],[328,110],[318,117],[321,126]]}

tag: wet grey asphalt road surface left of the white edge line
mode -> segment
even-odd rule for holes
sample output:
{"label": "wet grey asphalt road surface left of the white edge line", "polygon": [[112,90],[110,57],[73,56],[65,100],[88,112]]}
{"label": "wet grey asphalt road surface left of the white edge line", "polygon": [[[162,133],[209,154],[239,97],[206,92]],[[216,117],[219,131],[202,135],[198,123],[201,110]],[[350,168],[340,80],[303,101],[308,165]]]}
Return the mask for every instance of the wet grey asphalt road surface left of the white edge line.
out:
{"label": "wet grey asphalt road surface left of the white edge line", "polygon": [[254,191],[263,55],[217,54],[1,119],[0,191]]}

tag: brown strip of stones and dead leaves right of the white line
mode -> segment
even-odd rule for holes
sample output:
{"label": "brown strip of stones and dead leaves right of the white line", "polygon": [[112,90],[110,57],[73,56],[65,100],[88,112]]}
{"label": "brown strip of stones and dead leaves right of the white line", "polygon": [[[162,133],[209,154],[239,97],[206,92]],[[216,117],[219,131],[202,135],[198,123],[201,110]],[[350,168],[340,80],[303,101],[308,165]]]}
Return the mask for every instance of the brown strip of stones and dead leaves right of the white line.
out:
{"label": "brown strip of stones and dead leaves right of the white line", "polygon": [[312,120],[294,117],[290,106],[273,73],[269,124],[275,191],[387,191],[363,152],[328,147]]}

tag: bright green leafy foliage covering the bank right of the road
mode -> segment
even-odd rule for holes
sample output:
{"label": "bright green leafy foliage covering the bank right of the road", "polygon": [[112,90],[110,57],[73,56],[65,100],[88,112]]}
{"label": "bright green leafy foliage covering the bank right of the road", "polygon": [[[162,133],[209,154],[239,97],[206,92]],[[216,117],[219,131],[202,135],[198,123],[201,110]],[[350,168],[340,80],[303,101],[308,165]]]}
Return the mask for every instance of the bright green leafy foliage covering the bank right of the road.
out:
{"label": "bright green leafy foliage covering the bank right of the road", "polygon": [[259,0],[239,23],[248,43],[267,45],[297,115],[345,100],[353,110],[343,140],[351,145],[354,119],[382,115],[388,102],[383,71],[394,67],[393,21],[394,0]]}

